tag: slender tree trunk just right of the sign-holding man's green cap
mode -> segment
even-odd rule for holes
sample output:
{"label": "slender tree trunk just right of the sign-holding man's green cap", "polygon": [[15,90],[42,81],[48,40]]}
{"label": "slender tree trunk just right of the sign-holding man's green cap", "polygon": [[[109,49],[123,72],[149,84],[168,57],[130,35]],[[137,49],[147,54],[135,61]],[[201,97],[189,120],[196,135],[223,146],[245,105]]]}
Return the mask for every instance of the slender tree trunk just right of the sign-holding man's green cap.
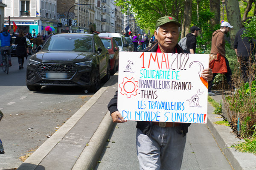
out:
{"label": "slender tree trunk just right of the sign-holding man's green cap", "polygon": [[181,28],[180,38],[186,36],[189,33],[189,28],[191,24],[191,16],[192,16],[192,0],[185,0],[184,5],[184,15],[183,15],[183,23]]}

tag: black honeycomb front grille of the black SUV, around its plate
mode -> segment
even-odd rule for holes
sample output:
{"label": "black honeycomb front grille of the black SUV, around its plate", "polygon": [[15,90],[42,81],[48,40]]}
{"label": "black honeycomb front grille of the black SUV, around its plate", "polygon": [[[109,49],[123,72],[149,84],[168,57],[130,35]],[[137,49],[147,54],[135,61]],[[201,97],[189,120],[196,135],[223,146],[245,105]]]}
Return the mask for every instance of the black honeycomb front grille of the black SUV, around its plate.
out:
{"label": "black honeycomb front grille of the black SUV, around its plate", "polygon": [[41,64],[38,66],[38,73],[43,79],[47,72],[67,73],[67,79],[71,79],[76,73],[76,67],[72,64]]}

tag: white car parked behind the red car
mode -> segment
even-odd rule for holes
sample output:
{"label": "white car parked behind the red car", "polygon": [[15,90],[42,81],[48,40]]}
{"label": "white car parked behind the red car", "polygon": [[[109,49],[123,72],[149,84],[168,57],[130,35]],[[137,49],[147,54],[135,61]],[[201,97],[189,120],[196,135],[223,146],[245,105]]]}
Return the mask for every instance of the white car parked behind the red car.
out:
{"label": "white car parked behind the red car", "polygon": [[119,33],[104,32],[100,33],[99,36],[113,37],[116,40],[116,44],[119,47],[119,51],[129,51],[129,44],[126,42],[125,37]]}

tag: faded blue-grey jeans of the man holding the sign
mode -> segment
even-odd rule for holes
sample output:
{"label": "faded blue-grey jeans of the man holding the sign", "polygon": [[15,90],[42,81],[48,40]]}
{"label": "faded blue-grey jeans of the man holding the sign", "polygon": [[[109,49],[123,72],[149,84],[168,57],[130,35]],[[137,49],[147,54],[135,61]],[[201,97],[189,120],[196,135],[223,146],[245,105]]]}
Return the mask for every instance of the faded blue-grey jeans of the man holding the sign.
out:
{"label": "faded blue-grey jeans of the man holding the sign", "polygon": [[137,129],[136,144],[140,170],[180,170],[186,144],[181,126],[153,125],[151,136]]}

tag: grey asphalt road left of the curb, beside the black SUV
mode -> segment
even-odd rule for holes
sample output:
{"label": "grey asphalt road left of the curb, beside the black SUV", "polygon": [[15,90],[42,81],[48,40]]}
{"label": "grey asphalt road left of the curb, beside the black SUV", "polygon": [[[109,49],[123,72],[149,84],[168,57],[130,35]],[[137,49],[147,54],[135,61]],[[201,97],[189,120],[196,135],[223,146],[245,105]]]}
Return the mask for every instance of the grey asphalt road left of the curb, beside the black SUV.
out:
{"label": "grey asphalt road left of the curb, beside the black SUV", "polygon": [[40,91],[29,91],[27,62],[18,70],[17,57],[12,57],[9,74],[0,68],[0,110],[4,114],[0,139],[5,149],[0,170],[19,167],[20,158],[33,153],[93,96],[81,88],[43,86]]}

